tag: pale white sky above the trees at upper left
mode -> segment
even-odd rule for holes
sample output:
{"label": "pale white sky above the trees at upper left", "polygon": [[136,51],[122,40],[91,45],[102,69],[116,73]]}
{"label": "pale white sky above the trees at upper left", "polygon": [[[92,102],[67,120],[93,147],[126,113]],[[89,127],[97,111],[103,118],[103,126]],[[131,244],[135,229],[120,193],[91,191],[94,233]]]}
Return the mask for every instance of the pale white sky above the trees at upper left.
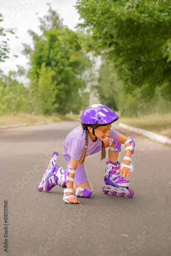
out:
{"label": "pale white sky above the trees at upper left", "polygon": [[[60,18],[63,19],[63,24],[69,29],[76,30],[75,26],[79,23],[79,17],[76,8],[76,0],[8,0],[1,1],[0,12],[3,14],[4,21],[0,26],[7,28],[15,28],[15,35],[8,34],[10,54],[9,59],[5,62],[0,62],[0,70],[8,74],[9,70],[17,70],[16,65],[24,67],[28,70],[28,59],[22,54],[24,49],[23,43],[32,45],[32,38],[28,30],[39,32],[38,17],[43,17],[47,14],[51,4],[53,10],[57,11]],[[15,38],[17,36],[18,38]],[[4,39],[4,38],[3,38]],[[1,38],[2,40],[2,38]],[[18,58],[13,57],[18,55]]]}

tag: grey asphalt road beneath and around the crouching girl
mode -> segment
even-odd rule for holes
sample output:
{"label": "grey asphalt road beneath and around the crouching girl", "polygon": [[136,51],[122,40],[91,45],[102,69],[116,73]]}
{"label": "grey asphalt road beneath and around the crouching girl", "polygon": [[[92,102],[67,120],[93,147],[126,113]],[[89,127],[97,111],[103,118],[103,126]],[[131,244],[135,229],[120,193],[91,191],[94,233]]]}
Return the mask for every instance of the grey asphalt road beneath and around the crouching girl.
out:
{"label": "grey asphalt road beneath and around the crouching girl", "polygon": [[[0,131],[0,254],[171,255],[168,145],[113,125],[136,142],[134,173],[130,176],[133,198],[102,193],[105,161],[100,161],[100,153],[86,159],[87,176],[94,187],[91,198],[80,198],[80,204],[70,205],[62,201],[63,191],[58,186],[49,192],[37,190],[54,151],[59,153],[59,165],[66,168],[63,140],[77,125],[79,121],[65,121]],[[120,162],[123,154],[124,146]]]}

